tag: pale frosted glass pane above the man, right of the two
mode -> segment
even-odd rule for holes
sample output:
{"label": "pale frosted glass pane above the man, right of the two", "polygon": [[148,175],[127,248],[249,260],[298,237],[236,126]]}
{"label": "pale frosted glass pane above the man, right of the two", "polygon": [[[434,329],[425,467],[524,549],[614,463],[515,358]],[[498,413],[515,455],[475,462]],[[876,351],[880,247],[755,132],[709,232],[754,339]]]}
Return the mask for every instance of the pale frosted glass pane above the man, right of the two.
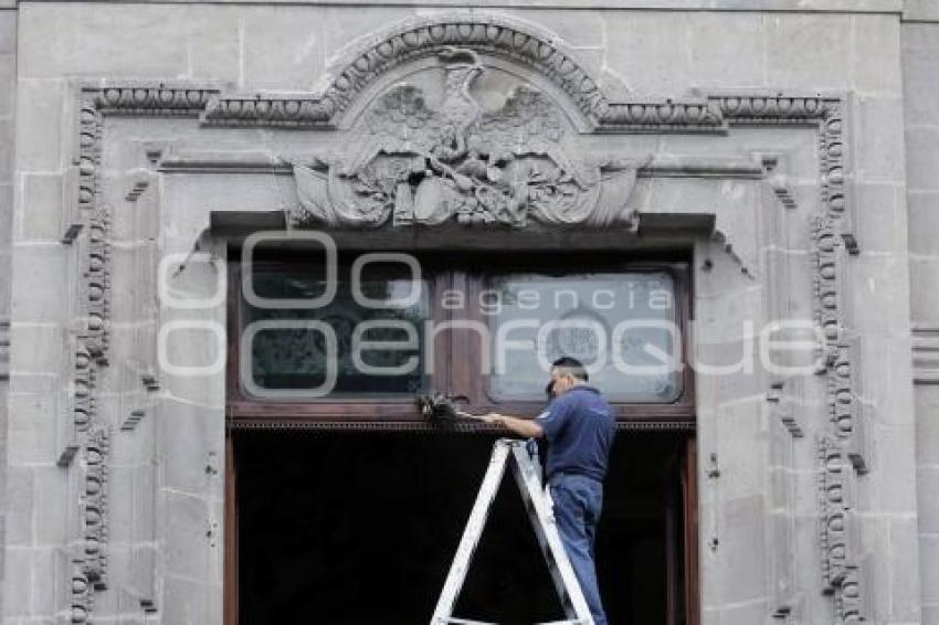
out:
{"label": "pale frosted glass pane above the man, right of the two", "polygon": [[571,356],[611,401],[673,402],[682,394],[675,282],[666,272],[492,276],[489,318],[498,400],[542,400],[549,363]]}

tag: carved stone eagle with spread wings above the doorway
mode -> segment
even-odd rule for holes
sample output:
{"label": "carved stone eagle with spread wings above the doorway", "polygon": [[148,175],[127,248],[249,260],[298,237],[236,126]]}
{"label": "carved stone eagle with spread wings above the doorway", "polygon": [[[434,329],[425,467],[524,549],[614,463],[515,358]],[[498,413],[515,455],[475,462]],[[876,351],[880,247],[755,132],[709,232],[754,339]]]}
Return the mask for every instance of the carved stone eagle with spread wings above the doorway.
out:
{"label": "carved stone eagle with spread wings above the doorway", "polygon": [[419,87],[377,98],[338,158],[294,165],[296,225],[498,223],[605,225],[621,219],[635,162],[574,162],[563,112],[518,85],[498,110],[472,95],[485,71],[472,50],[447,49],[439,109]]}

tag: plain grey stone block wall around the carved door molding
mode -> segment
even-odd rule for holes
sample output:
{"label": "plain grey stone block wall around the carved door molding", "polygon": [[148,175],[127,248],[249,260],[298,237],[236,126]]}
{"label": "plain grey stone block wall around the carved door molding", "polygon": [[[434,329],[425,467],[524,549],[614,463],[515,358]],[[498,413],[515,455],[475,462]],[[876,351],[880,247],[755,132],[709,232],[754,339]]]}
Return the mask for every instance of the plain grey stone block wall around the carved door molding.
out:
{"label": "plain grey stone block wall around the carved door molding", "polygon": [[[112,432],[103,445],[109,454],[109,581],[89,594],[96,621],[220,622],[224,379],[150,378],[156,327],[177,315],[156,299],[154,266],[157,258],[192,248],[209,209],[270,210],[295,198],[274,174],[159,173],[147,150],[277,156],[317,137],[264,127],[205,130],[196,115],[173,117],[152,107],[105,117],[82,100],[83,86],[178,83],[225,93],[312,92],[335,78],[329,72],[349,50],[389,24],[456,9],[440,4],[363,10],[316,2],[24,2],[18,22],[17,12],[0,10],[0,18],[9,14],[17,24],[0,30],[0,95],[7,93],[3,61],[12,60],[14,38],[20,68],[15,124],[12,108],[4,113],[0,102],[0,146],[17,138],[15,150],[0,147],[0,209],[4,189],[12,191],[10,180],[17,180],[7,199],[14,216],[6,230],[0,225],[0,232],[12,233],[14,251],[10,419],[0,430],[10,442],[2,465],[7,496],[0,497],[9,501],[0,585],[4,625],[43,622],[74,608],[70,565],[75,551],[88,547],[87,537],[77,533],[87,519],[74,518],[87,484],[76,476],[87,473],[91,456],[76,449],[74,433],[63,424],[76,405],[77,382],[86,380],[95,385],[97,417]],[[837,166],[823,168],[825,184],[840,178],[837,184],[848,188],[848,233],[859,245],[859,254],[841,250],[838,257],[840,320],[854,341],[853,356],[834,347],[845,360],[837,364],[846,364],[855,382],[846,399],[829,392],[832,379],[825,375],[780,382],[757,371],[698,380],[703,622],[821,625],[863,603],[859,610],[872,623],[936,625],[939,398],[929,393],[939,386],[922,383],[914,395],[910,384],[914,375],[929,377],[922,368],[914,372],[910,348],[930,353],[930,332],[939,326],[939,299],[931,299],[939,247],[929,236],[939,194],[939,114],[930,98],[939,84],[936,24],[903,21],[903,4],[893,0],[629,0],[577,10],[544,4],[475,11],[555,33],[604,92],[619,98],[726,92],[837,98],[843,127],[832,131],[837,137],[843,131],[845,144],[811,124],[768,129],[760,121],[735,127],[727,140],[682,134],[621,138],[624,152],[708,158],[724,150],[725,158],[738,159],[772,153],[779,163],[773,189],[761,172],[743,181],[644,180],[636,191],[640,211],[717,213],[732,245],[731,255],[724,242],[694,242],[695,307],[707,362],[729,362],[739,353],[746,336],[735,324],[743,318],[813,316],[819,247],[811,223],[825,208],[819,194],[822,165]],[[676,7],[686,10],[671,10]],[[12,98],[13,89],[9,93]],[[94,174],[86,171],[92,166]],[[4,178],[4,167],[15,178]],[[74,244],[61,242],[86,178],[97,181],[93,194],[113,216],[107,288],[119,296],[110,298],[107,311],[106,366],[91,363],[99,360],[94,353],[76,353],[76,335],[86,329],[75,315],[86,297],[80,276],[88,271],[92,243],[85,235]],[[10,262],[3,245],[0,241],[0,261]],[[212,272],[197,275],[192,290],[211,294]],[[0,301],[7,301],[2,295]],[[221,308],[186,315],[224,319]],[[912,345],[910,319],[925,329]],[[211,353],[211,339],[177,332],[167,347],[171,354],[200,359]],[[88,366],[94,375],[84,373]],[[841,593],[838,605],[821,593],[823,572],[837,558],[820,557],[816,445],[816,436],[830,431],[829,402],[835,401],[863,405],[869,444],[855,451],[866,473],[845,465],[838,468],[850,479],[826,483],[851,490],[851,555],[863,573],[852,578],[862,597]]]}

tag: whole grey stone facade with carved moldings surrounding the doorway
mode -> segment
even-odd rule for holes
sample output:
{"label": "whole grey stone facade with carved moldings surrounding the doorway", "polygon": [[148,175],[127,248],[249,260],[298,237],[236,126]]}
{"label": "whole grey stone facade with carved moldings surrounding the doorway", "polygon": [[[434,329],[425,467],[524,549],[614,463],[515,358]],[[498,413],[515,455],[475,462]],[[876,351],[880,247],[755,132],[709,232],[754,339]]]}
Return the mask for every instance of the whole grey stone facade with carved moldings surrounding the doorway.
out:
{"label": "whole grey stone facade with carved moldings surrounding the doorway", "polygon": [[[324,203],[310,177],[384,158],[400,82],[458,121],[454,51],[558,120],[523,156],[604,155],[610,203]],[[696,378],[700,622],[939,625],[937,67],[927,0],[0,4],[2,623],[221,624],[225,373],[158,362],[224,356],[224,229],[453,218],[481,247],[560,221],[693,250],[700,362],[815,322],[814,375]],[[158,298],[181,263],[188,308]]]}

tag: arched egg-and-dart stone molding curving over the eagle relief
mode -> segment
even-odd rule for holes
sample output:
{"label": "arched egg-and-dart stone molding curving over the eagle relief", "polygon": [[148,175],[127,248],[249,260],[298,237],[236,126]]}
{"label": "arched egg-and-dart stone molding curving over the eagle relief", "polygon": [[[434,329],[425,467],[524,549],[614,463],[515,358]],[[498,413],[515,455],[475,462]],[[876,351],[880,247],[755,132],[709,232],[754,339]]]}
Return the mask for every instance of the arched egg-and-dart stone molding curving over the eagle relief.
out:
{"label": "arched egg-and-dart stone molding curving over the eagle relief", "polygon": [[[409,21],[365,46],[341,67],[319,95],[239,95],[211,97],[201,116],[209,126],[262,126],[334,129],[362,91],[405,63],[435,56],[450,47],[530,67],[566,93],[595,133],[725,133],[729,123],[814,125],[837,102],[819,96],[721,95],[699,102],[611,102],[592,76],[563,50],[557,36],[528,24],[478,13]],[[210,94],[211,95],[211,94]],[[134,102],[163,99],[148,94],[115,93],[120,110]],[[196,102],[196,94],[176,99]],[[154,108],[154,105],[150,105]]]}

